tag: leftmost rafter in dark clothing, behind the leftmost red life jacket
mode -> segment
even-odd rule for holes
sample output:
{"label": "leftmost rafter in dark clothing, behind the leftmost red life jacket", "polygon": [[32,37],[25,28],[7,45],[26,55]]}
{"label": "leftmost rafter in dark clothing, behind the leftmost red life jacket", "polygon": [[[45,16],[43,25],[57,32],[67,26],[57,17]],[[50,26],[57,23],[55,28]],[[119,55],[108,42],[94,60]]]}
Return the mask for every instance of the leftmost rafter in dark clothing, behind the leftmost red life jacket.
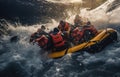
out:
{"label": "leftmost rafter in dark clothing, behind the leftmost red life jacket", "polygon": [[38,28],[37,32],[33,33],[30,37],[30,42],[34,42],[35,39],[39,38],[40,35],[48,35],[48,33],[45,32],[45,26],[41,26],[41,28]]}

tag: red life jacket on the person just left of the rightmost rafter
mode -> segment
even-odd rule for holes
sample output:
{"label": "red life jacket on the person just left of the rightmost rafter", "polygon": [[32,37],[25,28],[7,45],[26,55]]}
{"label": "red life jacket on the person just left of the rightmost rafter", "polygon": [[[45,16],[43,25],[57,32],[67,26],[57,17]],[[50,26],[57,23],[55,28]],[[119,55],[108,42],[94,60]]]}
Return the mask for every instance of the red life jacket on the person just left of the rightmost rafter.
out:
{"label": "red life jacket on the person just left of the rightmost rafter", "polygon": [[82,39],[83,32],[79,30],[79,28],[75,28],[72,32],[72,37],[76,40],[79,41]]}

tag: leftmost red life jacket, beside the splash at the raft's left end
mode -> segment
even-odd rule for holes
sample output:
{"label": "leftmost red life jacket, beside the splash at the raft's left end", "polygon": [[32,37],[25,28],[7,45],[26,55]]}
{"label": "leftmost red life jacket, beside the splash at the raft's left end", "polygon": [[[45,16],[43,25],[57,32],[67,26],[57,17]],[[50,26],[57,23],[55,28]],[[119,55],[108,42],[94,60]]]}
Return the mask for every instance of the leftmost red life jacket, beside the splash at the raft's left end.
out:
{"label": "leftmost red life jacket, beside the splash at the raft's left end", "polygon": [[41,48],[46,48],[47,43],[48,43],[48,38],[45,35],[40,36],[40,38],[35,40],[36,42],[38,42],[38,45]]}

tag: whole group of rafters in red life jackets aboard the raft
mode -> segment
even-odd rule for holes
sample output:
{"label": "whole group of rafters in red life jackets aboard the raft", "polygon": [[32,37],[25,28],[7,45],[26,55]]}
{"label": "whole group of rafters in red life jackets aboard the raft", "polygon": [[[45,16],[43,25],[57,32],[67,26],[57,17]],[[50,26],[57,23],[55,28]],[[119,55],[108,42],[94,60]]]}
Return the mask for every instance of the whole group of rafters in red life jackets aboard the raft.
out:
{"label": "whole group of rafters in red life jackets aboard the raft", "polygon": [[53,31],[45,32],[46,27],[41,26],[30,37],[30,42],[36,42],[43,50],[60,51],[73,45],[89,41],[98,34],[97,29],[90,21],[83,22],[82,17],[76,15],[74,25],[61,20]]}

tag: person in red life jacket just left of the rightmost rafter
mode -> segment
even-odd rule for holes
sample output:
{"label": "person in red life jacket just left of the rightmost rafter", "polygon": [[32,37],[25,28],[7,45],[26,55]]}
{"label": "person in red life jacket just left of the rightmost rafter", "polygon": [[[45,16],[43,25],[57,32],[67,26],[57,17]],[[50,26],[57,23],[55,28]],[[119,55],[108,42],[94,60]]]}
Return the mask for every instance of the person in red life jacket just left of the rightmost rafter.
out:
{"label": "person in red life jacket just left of the rightmost rafter", "polygon": [[75,45],[83,42],[83,32],[79,27],[76,27],[71,32],[72,41]]}

